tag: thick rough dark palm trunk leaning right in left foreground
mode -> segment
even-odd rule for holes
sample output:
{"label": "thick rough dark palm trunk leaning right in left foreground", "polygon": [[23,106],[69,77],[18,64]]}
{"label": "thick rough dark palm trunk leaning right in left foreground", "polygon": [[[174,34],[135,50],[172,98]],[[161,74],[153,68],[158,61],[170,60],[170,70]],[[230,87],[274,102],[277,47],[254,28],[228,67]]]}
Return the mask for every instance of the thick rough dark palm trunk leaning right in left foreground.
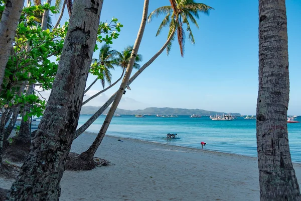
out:
{"label": "thick rough dark palm trunk leaning right in left foreground", "polygon": [[59,200],[76,130],[103,1],[75,0],[44,116],[9,200]]}

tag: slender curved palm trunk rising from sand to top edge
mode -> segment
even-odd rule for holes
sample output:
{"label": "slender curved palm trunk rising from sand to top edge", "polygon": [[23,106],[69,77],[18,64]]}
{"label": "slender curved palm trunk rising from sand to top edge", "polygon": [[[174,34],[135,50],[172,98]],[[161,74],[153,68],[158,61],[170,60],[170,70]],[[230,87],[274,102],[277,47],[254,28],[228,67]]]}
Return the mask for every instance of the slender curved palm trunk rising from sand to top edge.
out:
{"label": "slender curved palm trunk rising from sand to top edge", "polygon": [[128,65],[127,65],[127,68],[126,68],[126,71],[125,71],[125,75],[124,75],[123,80],[120,84],[120,87],[119,87],[119,89],[116,93],[116,97],[114,99],[112,107],[110,108],[110,110],[109,110],[109,112],[108,112],[108,114],[107,114],[107,116],[104,120],[104,123],[102,124],[102,127],[101,127],[96,139],[94,140],[93,144],[90,146],[90,148],[87,151],[85,151],[81,154],[82,157],[85,157],[88,160],[93,159],[93,156],[94,156],[98,146],[100,145],[100,143],[101,143],[101,141],[102,141],[109,125],[110,125],[110,122],[111,122],[112,117],[113,117],[113,115],[114,115],[114,113],[117,109],[117,106],[120,102],[120,99],[122,97],[124,89],[126,88],[127,82],[129,80],[129,77],[130,77],[130,74],[131,74],[131,71],[132,71],[132,68],[133,68],[133,64],[135,62],[136,55],[138,53],[140,42],[142,40],[142,36],[143,36],[145,24],[146,24],[146,18],[147,18],[148,2],[149,2],[149,0],[144,1],[144,7],[143,7],[143,14],[142,14],[140,29],[139,29],[138,34],[137,34],[137,38],[136,38],[136,41],[135,41],[135,44],[134,44],[134,47],[133,47],[133,50],[132,50],[132,53],[131,53],[131,56],[130,56],[130,59],[129,59],[129,62],[128,62]]}

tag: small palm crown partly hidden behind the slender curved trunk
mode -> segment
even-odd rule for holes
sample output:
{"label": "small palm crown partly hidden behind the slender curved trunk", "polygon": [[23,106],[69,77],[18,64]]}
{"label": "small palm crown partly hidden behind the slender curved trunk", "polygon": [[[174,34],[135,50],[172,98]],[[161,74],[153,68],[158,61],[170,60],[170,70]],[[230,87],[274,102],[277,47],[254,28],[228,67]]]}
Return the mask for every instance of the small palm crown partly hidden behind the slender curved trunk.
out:
{"label": "small palm crown partly hidden behind the slender curved trunk", "polygon": [[[127,67],[132,51],[133,51],[133,46],[129,45],[129,46],[126,46],[124,48],[124,50],[117,55],[116,63],[118,63],[118,65],[121,68]],[[142,61],[142,55],[137,54],[135,61],[134,61],[133,68],[139,69],[140,65],[138,64],[138,62],[140,62],[140,61]]]}

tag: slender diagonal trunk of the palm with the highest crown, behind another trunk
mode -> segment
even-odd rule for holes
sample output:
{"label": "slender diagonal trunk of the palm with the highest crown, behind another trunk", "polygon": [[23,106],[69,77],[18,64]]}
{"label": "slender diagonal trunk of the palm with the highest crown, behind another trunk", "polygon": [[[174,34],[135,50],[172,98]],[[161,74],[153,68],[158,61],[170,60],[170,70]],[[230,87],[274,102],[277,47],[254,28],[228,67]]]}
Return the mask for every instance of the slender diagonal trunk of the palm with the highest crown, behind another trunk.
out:
{"label": "slender diagonal trunk of the palm with the highest crown, behind another trunk", "polygon": [[[171,42],[172,37],[175,34],[175,30],[176,29],[173,30],[172,34],[170,35],[166,43],[163,45],[163,47],[152,58],[150,58],[141,68],[139,68],[139,70],[136,71],[135,74],[128,80],[127,85],[130,85],[130,83],[132,83],[138,77],[138,75],[141,74],[147,66],[152,64],[157,59],[157,57],[165,50],[167,45]],[[116,94],[117,92],[115,92],[107,100],[107,102],[100,109],[98,109],[98,111],[94,115],[92,115],[92,117],[90,117],[90,119],[86,123],[84,123],[79,129],[76,130],[76,132],[74,133],[74,139],[76,139],[78,136],[80,136],[80,134],[82,134],[85,130],[87,130],[89,126],[91,126],[93,122],[111,105],[111,103],[113,103]]]}

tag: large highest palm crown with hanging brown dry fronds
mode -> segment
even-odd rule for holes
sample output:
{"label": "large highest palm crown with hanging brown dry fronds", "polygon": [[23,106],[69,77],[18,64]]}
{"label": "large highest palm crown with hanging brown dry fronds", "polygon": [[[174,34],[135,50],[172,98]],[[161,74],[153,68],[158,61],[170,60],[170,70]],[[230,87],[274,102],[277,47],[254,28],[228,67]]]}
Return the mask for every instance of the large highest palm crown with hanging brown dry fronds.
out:
{"label": "large highest palm crown with hanging brown dry fronds", "polygon": [[[178,43],[180,45],[181,56],[184,56],[184,46],[185,46],[185,31],[183,29],[183,24],[186,24],[186,31],[188,32],[188,38],[192,44],[195,44],[195,39],[191,31],[190,22],[194,24],[197,28],[199,25],[196,19],[199,19],[199,13],[209,14],[209,11],[213,9],[210,6],[201,3],[195,3],[194,0],[175,0],[171,1],[171,6],[164,6],[156,9],[149,14],[147,20],[152,21],[154,17],[159,17],[161,14],[166,15],[163,19],[156,36],[159,36],[162,29],[169,26],[168,37],[172,35],[175,31],[178,35]],[[190,21],[190,22],[189,22]],[[167,54],[169,54],[173,41],[175,40],[175,35],[172,36],[170,43],[167,46]]]}

